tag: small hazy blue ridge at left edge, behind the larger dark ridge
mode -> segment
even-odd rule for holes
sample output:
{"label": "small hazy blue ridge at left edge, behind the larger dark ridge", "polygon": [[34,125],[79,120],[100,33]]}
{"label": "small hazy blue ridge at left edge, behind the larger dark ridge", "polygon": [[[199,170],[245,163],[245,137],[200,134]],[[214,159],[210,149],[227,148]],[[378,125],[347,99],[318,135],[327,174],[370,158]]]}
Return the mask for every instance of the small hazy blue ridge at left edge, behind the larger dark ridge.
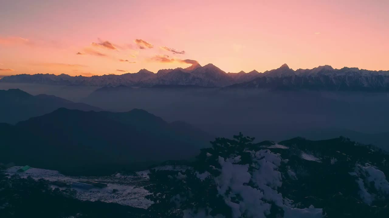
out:
{"label": "small hazy blue ridge at left edge, behind the larger dark ridge", "polygon": [[19,121],[41,116],[60,107],[81,111],[101,111],[98,107],[84,103],[75,103],[54,95],[30,95],[19,89],[0,90],[0,122],[17,123]]}

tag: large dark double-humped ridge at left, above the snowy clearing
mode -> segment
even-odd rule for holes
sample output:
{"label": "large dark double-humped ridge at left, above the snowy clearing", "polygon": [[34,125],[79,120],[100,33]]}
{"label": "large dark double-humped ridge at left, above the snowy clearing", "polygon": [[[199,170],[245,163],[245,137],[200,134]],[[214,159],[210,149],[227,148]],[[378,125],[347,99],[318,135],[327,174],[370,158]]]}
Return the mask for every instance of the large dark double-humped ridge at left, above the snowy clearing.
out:
{"label": "large dark double-humped ridge at left, above the snowy clearing", "polygon": [[140,109],[113,113],[60,108],[15,126],[1,124],[0,129],[3,162],[65,171],[189,159],[212,139],[190,125],[170,124]]}

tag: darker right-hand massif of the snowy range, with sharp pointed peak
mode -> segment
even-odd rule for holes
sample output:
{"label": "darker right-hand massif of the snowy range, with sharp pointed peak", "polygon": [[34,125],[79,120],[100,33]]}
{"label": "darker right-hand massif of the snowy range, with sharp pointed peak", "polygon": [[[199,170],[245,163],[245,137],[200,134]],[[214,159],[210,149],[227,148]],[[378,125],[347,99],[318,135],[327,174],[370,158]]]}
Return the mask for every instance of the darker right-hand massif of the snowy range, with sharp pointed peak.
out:
{"label": "darker right-hand massif of the snowy range, with sharp pointed peak", "polygon": [[333,69],[328,65],[294,71],[284,64],[254,80],[228,88],[386,92],[389,90],[389,71],[368,71],[355,67]]}

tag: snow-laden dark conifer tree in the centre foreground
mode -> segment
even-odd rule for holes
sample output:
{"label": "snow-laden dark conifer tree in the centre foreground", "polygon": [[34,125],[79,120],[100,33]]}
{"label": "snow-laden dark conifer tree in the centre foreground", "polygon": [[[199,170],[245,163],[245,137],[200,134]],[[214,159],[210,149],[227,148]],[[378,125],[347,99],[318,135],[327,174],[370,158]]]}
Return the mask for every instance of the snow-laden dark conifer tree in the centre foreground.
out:
{"label": "snow-laden dark conifer tree in the centre foreground", "polygon": [[216,138],[202,149],[193,168],[181,171],[152,170],[155,202],[150,209],[176,217],[322,217],[314,206],[297,208],[277,191],[282,186],[280,154],[253,144],[241,133],[233,139]]}

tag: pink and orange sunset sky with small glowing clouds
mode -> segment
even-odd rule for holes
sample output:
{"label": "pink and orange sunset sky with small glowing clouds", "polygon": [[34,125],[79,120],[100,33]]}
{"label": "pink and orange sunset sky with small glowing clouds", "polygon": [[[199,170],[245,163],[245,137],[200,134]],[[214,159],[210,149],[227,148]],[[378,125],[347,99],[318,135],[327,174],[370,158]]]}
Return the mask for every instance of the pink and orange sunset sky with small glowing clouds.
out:
{"label": "pink and orange sunset sky with small glowing clouds", "polygon": [[0,76],[389,70],[388,0],[0,0]]}

